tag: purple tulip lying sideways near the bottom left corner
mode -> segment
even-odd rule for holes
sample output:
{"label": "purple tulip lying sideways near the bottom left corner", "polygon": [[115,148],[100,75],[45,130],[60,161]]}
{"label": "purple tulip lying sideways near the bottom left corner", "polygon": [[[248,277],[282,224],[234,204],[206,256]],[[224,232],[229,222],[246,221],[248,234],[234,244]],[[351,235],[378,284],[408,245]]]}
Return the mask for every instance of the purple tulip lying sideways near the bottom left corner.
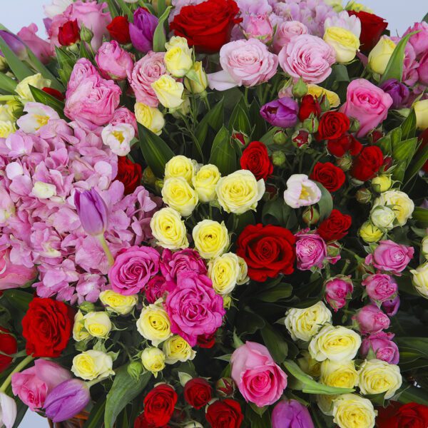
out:
{"label": "purple tulip lying sideways near the bottom left corner", "polygon": [[58,384],[46,397],[46,416],[53,422],[63,422],[76,416],[91,401],[91,394],[85,382],[69,379]]}

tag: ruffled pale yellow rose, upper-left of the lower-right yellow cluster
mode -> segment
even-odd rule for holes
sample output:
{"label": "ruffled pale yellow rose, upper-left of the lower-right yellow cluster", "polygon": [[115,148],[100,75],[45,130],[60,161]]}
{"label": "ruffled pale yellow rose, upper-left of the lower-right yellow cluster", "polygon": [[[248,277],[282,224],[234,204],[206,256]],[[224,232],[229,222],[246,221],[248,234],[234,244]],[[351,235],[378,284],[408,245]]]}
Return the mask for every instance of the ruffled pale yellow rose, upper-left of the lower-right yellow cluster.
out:
{"label": "ruffled pale yellow rose, upper-left of the lower-right yellow cluster", "polygon": [[322,325],[330,322],[332,322],[332,312],[322,301],[304,309],[292,307],[285,314],[285,327],[292,340],[300,339],[308,342]]}

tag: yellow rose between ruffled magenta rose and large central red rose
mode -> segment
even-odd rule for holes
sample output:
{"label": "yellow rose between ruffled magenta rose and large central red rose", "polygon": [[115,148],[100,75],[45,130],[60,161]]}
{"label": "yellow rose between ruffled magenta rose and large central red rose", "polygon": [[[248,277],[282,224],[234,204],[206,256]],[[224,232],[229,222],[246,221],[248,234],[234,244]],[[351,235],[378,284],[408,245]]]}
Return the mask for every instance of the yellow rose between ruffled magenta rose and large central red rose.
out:
{"label": "yellow rose between ruffled magenta rose and large central red rose", "polygon": [[233,253],[220,255],[208,263],[208,277],[213,281],[213,289],[220,295],[233,291],[239,275],[238,256]]}

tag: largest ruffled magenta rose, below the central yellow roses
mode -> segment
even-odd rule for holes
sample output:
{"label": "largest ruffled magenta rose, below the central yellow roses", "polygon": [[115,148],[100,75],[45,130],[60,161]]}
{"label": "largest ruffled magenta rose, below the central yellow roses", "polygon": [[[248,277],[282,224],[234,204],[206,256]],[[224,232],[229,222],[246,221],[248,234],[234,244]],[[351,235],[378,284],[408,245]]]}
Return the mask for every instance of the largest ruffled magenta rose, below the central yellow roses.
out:
{"label": "largest ruffled magenta rose, below the central yellow roses", "polygon": [[213,290],[205,275],[181,272],[177,286],[165,300],[165,310],[171,322],[171,332],[195,346],[199,335],[211,335],[223,322],[223,298]]}

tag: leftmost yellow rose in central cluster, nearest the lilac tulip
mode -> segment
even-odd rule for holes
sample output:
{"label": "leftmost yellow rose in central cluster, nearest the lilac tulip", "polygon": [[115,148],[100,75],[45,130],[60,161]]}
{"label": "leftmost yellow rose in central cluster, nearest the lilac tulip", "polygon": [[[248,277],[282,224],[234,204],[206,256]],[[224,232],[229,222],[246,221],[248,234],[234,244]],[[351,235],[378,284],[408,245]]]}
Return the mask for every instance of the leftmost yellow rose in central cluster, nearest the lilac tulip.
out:
{"label": "leftmost yellow rose in central cluster, nearest the lilac tulip", "polygon": [[150,221],[152,235],[157,245],[170,250],[188,248],[187,230],[180,213],[173,208],[162,208],[153,214]]}

